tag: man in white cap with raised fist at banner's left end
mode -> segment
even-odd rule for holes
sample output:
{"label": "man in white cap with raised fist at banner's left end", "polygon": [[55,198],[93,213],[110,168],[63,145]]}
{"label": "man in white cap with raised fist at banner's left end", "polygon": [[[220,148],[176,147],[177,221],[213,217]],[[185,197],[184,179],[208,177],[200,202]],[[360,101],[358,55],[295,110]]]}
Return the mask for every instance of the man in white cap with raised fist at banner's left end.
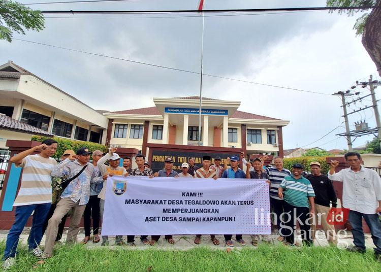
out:
{"label": "man in white cap with raised fist at banner's left end", "polygon": [[[120,157],[115,152],[116,152],[116,148],[110,148],[110,152],[107,153],[105,156],[103,156],[98,161],[98,164],[97,164],[99,171],[101,172],[103,179],[104,179],[102,191],[98,195],[98,197],[101,198],[100,214],[101,214],[102,220],[103,220],[103,212],[105,209],[107,178],[111,177],[111,176],[128,176],[129,175],[129,173],[126,171],[126,169],[124,167],[119,166]],[[105,164],[106,161],[109,161],[109,164],[110,164],[109,166],[107,166]],[[128,235],[127,241],[131,246],[134,246],[135,245],[134,244],[134,235]],[[102,246],[106,246],[106,245],[108,245],[108,243],[109,243],[108,236],[102,235]],[[125,245],[121,235],[115,236],[115,244],[118,246]]]}

